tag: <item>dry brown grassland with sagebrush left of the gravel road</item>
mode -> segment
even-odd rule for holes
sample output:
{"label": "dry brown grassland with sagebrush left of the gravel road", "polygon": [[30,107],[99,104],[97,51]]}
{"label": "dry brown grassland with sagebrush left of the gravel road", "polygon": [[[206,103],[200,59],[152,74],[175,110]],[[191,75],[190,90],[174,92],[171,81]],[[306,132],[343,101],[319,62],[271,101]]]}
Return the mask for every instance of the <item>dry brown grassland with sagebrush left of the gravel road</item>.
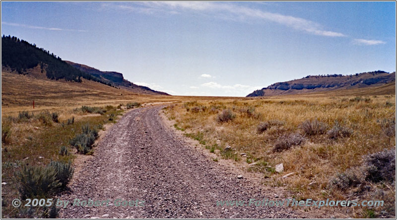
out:
{"label": "dry brown grassland with sagebrush left of the gravel road", "polygon": [[2,218],[55,218],[56,209],[14,208],[11,201],[56,198],[67,190],[76,158],[92,154],[98,132],[126,110],[219,99],[145,95],[86,80],[56,81],[35,70],[27,75],[2,71],[1,80]]}

